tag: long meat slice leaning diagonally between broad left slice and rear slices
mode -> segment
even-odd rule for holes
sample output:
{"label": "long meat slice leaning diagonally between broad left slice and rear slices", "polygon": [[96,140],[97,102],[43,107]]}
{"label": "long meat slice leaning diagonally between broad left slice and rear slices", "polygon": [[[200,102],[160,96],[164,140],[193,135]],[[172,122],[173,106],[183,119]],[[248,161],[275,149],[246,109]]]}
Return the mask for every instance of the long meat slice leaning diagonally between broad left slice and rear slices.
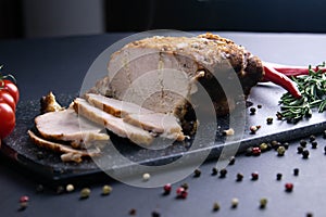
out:
{"label": "long meat slice leaning diagonally between broad left slice and rear slices", "polygon": [[85,116],[97,124],[105,126],[105,128],[120,137],[128,138],[136,144],[150,144],[154,139],[149,131],[128,123],[124,123],[122,118],[115,117],[98,107],[92,106],[84,99],[75,99],[73,107],[75,108],[76,113],[80,114],[82,116]]}

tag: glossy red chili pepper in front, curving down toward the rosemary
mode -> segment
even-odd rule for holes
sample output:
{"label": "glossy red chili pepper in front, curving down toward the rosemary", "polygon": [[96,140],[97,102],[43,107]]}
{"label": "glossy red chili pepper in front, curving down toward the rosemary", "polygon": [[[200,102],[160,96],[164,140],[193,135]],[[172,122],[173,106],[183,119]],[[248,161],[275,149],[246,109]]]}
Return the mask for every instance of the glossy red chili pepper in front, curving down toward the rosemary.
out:
{"label": "glossy red chili pepper in front, curving down toward the rosemary", "polygon": [[296,82],[292,81],[289,77],[276,71],[269,64],[264,64],[264,71],[265,71],[265,76],[264,76],[265,81],[272,81],[276,85],[279,85],[280,87],[289,91],[294,98],[298,99],[301,98],[301,93]]}

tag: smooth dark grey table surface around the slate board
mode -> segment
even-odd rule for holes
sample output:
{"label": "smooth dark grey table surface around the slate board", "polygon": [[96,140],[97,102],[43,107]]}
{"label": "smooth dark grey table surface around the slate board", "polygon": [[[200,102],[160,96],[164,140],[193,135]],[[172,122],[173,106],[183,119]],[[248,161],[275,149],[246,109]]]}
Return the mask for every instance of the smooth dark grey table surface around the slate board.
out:
{"label": "smooth dark grey table surface around the slate board", "polygon": [[[326,35],[321,34],[258,34],[217,33],[244,46],[262,60],[280,64],[308,65],[325,61]],[[95,59],[109,46],[130,34],[105,34],[50,39],[26,39],[0,41],[1,64],[4,71],[14,74],[18,80],[21,100],[38,100],[48,91],[57,94],[77,93],[83,79]],[[263,94],[263,93],[262,93]],[[319,129],[322,132],[324,129]],[[79,200],[77,188],[72,193],[57,194],[46,187],[36,192],[40,183],[33,174],[26,175],[14,165],[0,157],[0,209],[1,216],[325,216],[326,214],[326,156],[325,140],[317,136],[317,149],[306,149],[310,157],[303,159],[297,153],[299,139],[291,140],[285,156],[275,151],[261,156],[236,157],[235,165],[227,167],[227,176],[212,176],[216,161],[200,166],[201,176],[187,178],[173,183],[170,195],[162,195],[162,188],[137,188],[112,179],[103,179],[87,187],[91,194]],[[289,135],[289,140],[291,136]],[[305,138],[306,139],[306,138]],[[299,168],[299,176],[293,176]],[[260,178],[251,180],[258,171]],[[236,175],[243,174],[241,182]],[[281,173],[283,179],[276,180]],[[175,190],[184,182],[189,186],[186,200],[176,199]],[[294,184],[292,192],[285,191],[285,183]],[[108,196],[101,195],[103,183],[113,187]],[[29,205],[18,210],[21,195],[29,196]],[[237,197],[239,205],[231,208],[231,200]],[[262,197],[268,200],[266,208],[260,208]],[[221,209],[213,212],[213,203]]]}

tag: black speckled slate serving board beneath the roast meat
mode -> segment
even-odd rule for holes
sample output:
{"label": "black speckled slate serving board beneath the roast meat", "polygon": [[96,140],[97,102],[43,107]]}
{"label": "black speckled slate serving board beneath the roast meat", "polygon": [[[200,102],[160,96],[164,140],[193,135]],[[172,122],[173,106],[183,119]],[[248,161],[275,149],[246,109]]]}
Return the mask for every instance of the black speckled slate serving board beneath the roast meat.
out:
{"label": "black speckled slate serving board beneath the roast meat", "polygon": [[[272,84],[263,84],[253,88],[248,101],[252,103],[251,106],[258,107],[261,104],[262,107],[256,108],[254,115],[246,114],[243,138],[238,151],[241,152],[248,146],[258,145],[261,142],[297,139],[310,133],[319,132],[325,128],[325,114],[316,112],[313,113],[312,118],[304,119],[296,125],[276,120],[275,114],[279,110],[278,99],[283,93],[283,89]],[[68,105],[74,97],[58,95],[57,98],[61,104]],[[63,163],[59,154],[38,148],[32,143],[27,136],[27,130],[34,128],[34,117],[38,114],[38,101],[20,102],[16,112],[16,128],[3,141],[0,149],[2,154],[13,159],[18,168],[33,171],[40,178],[46,178],[47,181],[55,182],[103,174],[92,159],[86,159],[82,164]],[[266,124],[267,116],[274,117],[272,125]],[[227,118],[218,118],[217,129],[227,129]],[[252,125],[261,125],[260,130],[255,135],[250,133],[249,127]],[[203,127],[208,130],[216,129],[216,123],[211,123],[211,125]],[[148,166],[168,164],[185,155],[196,158],[197,155],[201,155],[202,153],[210,153],[206,158],[216,158],[220,156],[223,148],[231,146],[234,143],[225,142],[225,137],[217,130],[215,142],[210,142],[205,137],[201,137],[199,138],[200,145],[195,150],[190,149],[191,139],[189,139],[183,143],[175,143],[165,150],[152,151],[136,146],[126,139],[117,138],[114,135],[110,136],[115,146],[118,146],[121,154],[136,164]],[[133,165],[115,162],[113,167],[115,170],[128,171]]]}

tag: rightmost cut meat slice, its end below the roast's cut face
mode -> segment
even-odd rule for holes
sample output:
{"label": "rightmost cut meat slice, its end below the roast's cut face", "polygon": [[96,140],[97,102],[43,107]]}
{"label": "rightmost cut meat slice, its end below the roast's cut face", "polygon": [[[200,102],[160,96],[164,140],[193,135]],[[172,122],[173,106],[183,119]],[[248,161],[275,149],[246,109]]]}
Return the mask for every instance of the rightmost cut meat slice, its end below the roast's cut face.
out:
{"label": "rightmost cut meat slice, its end below the roast's cut face", "polygon": [[185,140],[183,128],[173,115],[163,113],[128,114],[123,119],[146,130],[161,133],[161,137],[178,141]]}

